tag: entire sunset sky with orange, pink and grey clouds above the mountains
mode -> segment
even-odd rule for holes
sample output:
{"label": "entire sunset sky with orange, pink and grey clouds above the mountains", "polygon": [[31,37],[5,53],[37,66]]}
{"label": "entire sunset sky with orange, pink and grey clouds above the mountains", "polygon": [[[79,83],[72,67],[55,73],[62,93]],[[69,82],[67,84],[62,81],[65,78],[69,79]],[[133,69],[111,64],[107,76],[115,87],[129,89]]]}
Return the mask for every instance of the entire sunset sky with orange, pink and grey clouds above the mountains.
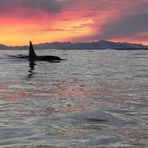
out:
{"label": "entire sunset sky with orange, pink and grey clouds above the mountains", "polygon": [[148,45],[148,0],[0,0],[0,44],[29,40]]}

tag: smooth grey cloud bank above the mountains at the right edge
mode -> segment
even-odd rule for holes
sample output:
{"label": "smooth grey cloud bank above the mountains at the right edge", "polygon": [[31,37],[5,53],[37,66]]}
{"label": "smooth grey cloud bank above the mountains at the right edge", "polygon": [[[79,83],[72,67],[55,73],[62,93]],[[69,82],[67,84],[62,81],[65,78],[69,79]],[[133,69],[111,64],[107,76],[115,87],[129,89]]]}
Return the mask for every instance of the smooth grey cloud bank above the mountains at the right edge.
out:
{"label": "smooth grey cloud bank above the mountains at the right edge", "polygon": [[122,38],[148,31],[148,13],[139,13],[121,18],[102,27],[102,38]]}

